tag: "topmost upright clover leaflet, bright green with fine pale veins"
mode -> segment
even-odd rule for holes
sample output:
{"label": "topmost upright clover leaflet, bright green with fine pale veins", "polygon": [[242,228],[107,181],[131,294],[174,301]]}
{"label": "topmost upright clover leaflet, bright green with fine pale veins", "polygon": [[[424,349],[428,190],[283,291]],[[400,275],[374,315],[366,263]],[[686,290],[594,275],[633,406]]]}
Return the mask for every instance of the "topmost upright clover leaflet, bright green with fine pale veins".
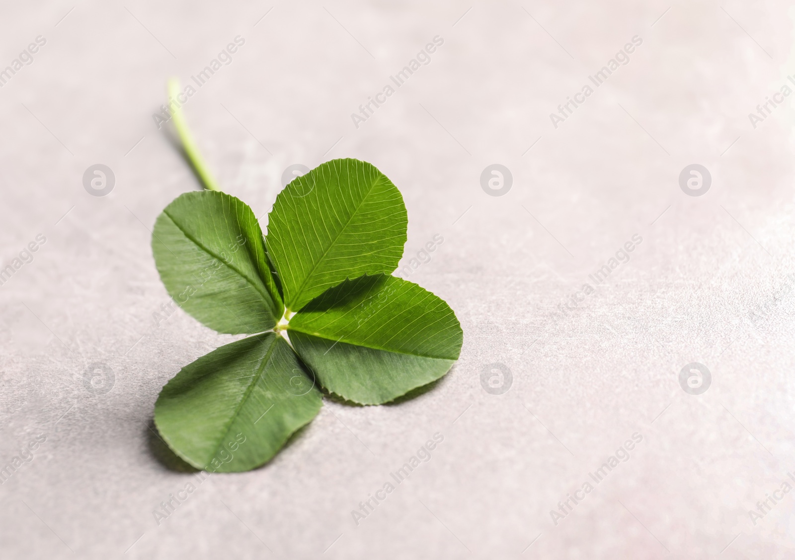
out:
{"label": "topmost upright clover leaflet, bright green with fine pale veins", "polygon": [[370,163],[334,159],[295,178],[268,216],[268,255],[287,309],[345,278],[390,274],[408,223],[400,191]]}

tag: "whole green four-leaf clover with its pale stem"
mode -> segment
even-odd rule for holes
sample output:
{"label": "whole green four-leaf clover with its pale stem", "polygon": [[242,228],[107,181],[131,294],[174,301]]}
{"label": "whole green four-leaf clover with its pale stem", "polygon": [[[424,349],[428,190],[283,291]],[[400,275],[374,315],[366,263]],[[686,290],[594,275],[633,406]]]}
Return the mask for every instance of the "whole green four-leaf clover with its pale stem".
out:
{"label": "whole green four-leaf clover with its pale stem", "polygon": [[250,470],[316,416],[320,388],[378,405],[448,372],[463,332],[443,300],[390,276],[408,219],[385,175],[357,159],[323,163],[277,195],[263,236],[251,209],[218,190],[181,110],[172,113],[207,190],[157,217],[157,270],[201,323],[253,335],[161,390],[154,420],[176,455],[199,469]]}

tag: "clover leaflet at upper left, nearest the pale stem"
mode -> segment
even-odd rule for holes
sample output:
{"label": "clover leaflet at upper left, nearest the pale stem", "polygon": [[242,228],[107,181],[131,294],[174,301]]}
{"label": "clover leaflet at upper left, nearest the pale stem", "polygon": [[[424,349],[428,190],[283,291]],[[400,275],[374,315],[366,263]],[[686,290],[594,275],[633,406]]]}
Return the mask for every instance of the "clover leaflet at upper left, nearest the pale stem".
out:
{"label": "clover leaflet at upper left, nearest the pale stem", "polygon": [[262,231],[237,198],[213,190],[180,195],[155,221],[152,252],[169,295],[207,327],[251,334],[281,318]]}

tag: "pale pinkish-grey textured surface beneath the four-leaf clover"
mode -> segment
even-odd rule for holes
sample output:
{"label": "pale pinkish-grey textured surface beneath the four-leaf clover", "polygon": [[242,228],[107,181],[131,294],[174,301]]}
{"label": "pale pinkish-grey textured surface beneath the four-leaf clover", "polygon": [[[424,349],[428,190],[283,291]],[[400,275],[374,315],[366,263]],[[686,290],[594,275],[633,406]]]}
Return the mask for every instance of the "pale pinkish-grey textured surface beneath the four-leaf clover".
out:
{"label": "pale pinkish-grey textured surface beneath the four-leaf clover", "polygon": [[[795,471],[793,112],[788,98],[757,128],[748,117],[795,71],[785,2],[0,13],[0,67],[47,39],[0,88],[0,263],[47,239],[0,286],[0,466],[46,436],[0,486],[2,558],[793,557],[795,495],[749,515]],[[405,198],[405,262],[444,237],[409,279],[456,311],[463,350],[414,400],[326,401],[270,464],[212,476],[158,526],[192,475],[149,429],[153,403],[233,337],[181,311],[153,319],[169,300],[149,229],[197,185],[152,115],[169,76],[186,82],[237,35],[185,106],[223,189],[265,215],[293,163],[374,163]],[[355,128],[436,35],[431,63]],[[553,128],[635,35],[630,63]],[[116,176],[107,197],[83,189],[95,163]],[[501,197],[479,184],[492,163],[514,177]],[[712,174],[704,196],[679,187],[691,163]],[[634,234],[630,262],[561,311]],[[110,393],[83,384],[94,362]],[[501,395],[480,383],[494,362],[513,375]],[[699,396],[678,382],[690,362],[712,374]],[[435,432],[432,459],[357,526],[351,510]],[[553,524],[634,432],[630,460]]]}

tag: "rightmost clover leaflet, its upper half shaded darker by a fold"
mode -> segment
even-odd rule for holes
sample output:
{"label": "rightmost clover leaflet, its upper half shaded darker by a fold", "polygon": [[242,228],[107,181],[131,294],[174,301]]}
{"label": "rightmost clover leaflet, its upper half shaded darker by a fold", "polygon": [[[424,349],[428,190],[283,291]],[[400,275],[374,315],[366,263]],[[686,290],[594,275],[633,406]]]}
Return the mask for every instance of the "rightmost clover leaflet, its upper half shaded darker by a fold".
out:
{"label": "rightmost clover leaflet, its upper half shaded darker by a fold", "polygon": [[287,329],[320,385],[363,405],[436,381],[456,362],[463,341],[456,314],[440,297],[386,274],[327,290]]}

